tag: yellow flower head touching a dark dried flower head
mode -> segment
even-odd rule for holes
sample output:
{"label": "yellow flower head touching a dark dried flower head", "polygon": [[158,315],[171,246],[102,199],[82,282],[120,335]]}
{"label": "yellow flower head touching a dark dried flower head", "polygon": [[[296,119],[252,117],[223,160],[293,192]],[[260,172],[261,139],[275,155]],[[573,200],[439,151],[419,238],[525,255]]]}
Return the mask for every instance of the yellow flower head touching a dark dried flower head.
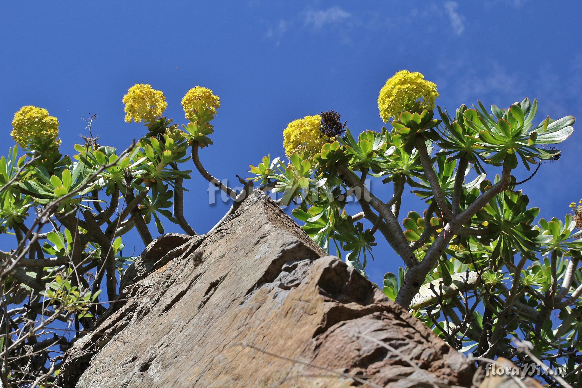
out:
{"label": "yellow flower head touching a dark dried flower head", "polygon": [[296,119],[283,130],[283,147],[288,157],[294,153],[318,153],[330,140],[321,132],[321,115]]}

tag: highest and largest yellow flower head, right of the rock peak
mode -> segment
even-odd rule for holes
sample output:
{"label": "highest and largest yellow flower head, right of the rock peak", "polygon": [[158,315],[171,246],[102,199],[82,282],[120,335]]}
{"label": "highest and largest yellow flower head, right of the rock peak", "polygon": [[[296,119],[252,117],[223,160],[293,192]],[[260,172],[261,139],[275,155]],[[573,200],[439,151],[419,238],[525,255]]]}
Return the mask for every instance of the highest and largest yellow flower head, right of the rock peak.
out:
{"label": "highest and largest yellow flower head, right of the rock peak", "polygon": [[398,117],[404,111],[431,110],[437,97],[435,83],[425,80],[421,73],[400,70],[380,89],[380,117],[388,122],[391,117]]}

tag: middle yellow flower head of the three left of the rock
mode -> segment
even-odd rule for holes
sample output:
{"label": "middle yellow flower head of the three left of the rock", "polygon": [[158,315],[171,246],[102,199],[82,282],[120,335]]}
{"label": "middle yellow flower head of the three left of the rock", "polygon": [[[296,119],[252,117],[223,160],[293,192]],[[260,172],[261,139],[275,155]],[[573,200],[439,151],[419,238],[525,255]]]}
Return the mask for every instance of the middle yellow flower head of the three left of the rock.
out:
{"label": "middle yellow flower head of the three left of the rock", "polygon": [[168,103],[161,90],[152,89],[151,85],[136,83],[123,96],[126,122],[154,122],[166,110]]}

